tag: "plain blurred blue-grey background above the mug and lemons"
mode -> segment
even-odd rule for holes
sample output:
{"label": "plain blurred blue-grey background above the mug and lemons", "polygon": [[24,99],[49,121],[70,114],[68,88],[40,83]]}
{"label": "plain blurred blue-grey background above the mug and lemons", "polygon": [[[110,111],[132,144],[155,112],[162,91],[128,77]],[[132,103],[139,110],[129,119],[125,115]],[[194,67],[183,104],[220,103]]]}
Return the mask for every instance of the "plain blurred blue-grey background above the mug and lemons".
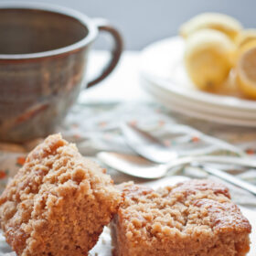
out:
{"label": "plain blurred blue-grey background above the mug and lemons", "polygon": [[[1,2],[6,0],[0,0]],[[108,18],[122,31],[125,47],[128,49],[141,49],[157,39],[176,35],[180,24],[200,12],[226,13],[239,18],[244,27],[256,27],[255,0],[42,0],[39,2],[72,7],[91,17]],[[104,48],[105,45],[104,38],[101,37],[96,47]]]}

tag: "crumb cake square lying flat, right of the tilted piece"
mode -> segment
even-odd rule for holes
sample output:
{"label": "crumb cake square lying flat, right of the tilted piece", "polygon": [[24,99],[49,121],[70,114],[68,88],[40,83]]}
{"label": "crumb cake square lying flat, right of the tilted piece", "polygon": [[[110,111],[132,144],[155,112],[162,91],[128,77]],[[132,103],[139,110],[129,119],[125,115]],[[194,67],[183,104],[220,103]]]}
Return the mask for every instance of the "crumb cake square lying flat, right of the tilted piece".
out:
{"label": "crumb cake square lying flat, right of the tilted piece", "polygon": [[221,184],[119,188],[124,200],[111,224],[115,256],[242,256],[250,249],[251,225]]}

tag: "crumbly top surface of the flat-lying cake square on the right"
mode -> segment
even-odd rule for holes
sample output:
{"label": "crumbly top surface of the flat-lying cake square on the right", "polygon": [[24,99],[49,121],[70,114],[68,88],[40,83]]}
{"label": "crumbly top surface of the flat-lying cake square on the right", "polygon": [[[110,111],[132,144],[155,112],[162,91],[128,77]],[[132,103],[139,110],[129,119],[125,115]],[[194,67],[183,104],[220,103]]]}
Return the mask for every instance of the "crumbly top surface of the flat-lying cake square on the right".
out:
{"label": "crumbly top surface of the flat-lying cake square on the right", "polygon": [[128,240],[190,240],[216,233],[251,232],[240,208],[230,201],[229,189],[208,180],[190,180],[175,187],[150,188],[124,184],[125,195],[118,211]]}

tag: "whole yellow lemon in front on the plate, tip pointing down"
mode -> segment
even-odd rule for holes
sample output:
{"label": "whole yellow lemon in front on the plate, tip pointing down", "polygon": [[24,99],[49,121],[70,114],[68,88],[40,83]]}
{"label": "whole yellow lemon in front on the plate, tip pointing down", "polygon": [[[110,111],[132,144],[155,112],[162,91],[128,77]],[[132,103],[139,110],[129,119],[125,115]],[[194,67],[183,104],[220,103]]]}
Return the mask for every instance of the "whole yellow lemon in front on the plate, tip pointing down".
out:
{"label": "whole yellow lemon in front on the plate, tip pointing down", "polygon": [[225,34],[202,29],[187,39],[185,65],[198,89],[215,91],[228,78],[235,45]]}

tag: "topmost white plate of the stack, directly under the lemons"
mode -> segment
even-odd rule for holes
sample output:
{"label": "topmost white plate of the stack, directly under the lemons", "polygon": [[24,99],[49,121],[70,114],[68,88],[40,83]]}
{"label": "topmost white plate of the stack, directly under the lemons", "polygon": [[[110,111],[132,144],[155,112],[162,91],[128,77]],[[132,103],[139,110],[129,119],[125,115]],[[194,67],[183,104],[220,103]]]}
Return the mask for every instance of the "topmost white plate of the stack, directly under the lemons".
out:
{"label": "topmost white plate of the stack, directly under the lemons", "polygon": [[140,59],[141,75],[158,89],[176,95],[179,101],[202,107],[216,115],[256,120],[256,101],[242,100],[198,91],[187,78],[183,67],[184,41],[171,37],[145,48]]}

